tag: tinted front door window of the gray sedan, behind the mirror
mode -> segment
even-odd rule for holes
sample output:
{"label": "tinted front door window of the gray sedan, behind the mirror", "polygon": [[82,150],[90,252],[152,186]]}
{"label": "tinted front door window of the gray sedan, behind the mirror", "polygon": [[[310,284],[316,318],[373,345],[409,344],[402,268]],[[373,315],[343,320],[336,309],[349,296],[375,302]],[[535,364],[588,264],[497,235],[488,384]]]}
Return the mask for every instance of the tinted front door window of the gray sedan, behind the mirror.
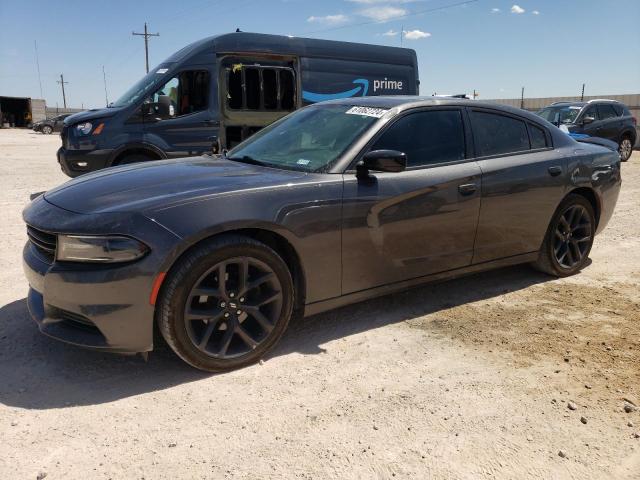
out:
{"label": "tinted front door window of the gray sedan, behind the mirror", "polygon": [[462,113],[459,110],[433,110],[406,115],[391,125],[371,150],[404,152],[409,167],[463,160]]}

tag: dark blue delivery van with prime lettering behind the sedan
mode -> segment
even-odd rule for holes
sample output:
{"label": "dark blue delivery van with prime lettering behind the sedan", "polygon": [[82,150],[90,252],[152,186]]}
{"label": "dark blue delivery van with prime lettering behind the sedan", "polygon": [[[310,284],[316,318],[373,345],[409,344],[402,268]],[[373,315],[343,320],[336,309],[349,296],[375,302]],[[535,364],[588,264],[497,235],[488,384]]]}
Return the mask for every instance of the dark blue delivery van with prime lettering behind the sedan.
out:
{"label": "dark blue delivery van with prime lettering behind the sedan", "polygon": [[257,33],[184,47],[108,108],[65,119],[58,161],[75,177],[112,165],[231,148],[323,100],[417,95],[407,48]]}

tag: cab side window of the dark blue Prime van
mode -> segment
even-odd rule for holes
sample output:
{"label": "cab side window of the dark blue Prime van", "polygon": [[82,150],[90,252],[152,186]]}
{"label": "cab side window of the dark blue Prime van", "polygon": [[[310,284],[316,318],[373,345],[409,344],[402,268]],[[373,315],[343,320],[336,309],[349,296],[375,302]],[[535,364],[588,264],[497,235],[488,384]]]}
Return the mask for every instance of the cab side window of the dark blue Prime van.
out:
{"label": "cab side window of the dark blue Prime van", "polygon": [[181,72],[160,87],[145,102],[146,113],[157,120],[206,110],[209,105],[209,72]]}

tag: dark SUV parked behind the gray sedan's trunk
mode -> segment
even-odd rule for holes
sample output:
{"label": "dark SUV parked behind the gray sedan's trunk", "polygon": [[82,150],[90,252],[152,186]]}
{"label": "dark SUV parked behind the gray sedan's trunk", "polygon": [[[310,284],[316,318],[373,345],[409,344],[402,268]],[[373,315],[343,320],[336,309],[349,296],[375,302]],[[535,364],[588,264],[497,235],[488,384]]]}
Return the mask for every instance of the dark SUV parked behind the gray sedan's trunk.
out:
{"label": "dark SUV parked behind the gray sedan's trunk", "polygon": [[616,142],[623,162],[629,160],[636,144],[637,120],[626,105],[615,100],[556,102],[540,110],[538,115],[570,134]]}

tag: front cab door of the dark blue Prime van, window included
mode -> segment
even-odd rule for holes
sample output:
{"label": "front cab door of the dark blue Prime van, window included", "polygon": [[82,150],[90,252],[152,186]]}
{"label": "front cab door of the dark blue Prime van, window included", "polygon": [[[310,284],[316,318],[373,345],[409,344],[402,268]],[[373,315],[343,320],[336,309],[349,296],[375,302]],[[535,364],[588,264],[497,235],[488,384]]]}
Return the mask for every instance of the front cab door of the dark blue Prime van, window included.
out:
{"label": "front cab door of the dark blue Prime van, window included", "polygon": [[176,73],[143,105],[143,141],[163,150],[167,157],[210,152],[217,136],[211,101],[211,73],[192,67]]}

